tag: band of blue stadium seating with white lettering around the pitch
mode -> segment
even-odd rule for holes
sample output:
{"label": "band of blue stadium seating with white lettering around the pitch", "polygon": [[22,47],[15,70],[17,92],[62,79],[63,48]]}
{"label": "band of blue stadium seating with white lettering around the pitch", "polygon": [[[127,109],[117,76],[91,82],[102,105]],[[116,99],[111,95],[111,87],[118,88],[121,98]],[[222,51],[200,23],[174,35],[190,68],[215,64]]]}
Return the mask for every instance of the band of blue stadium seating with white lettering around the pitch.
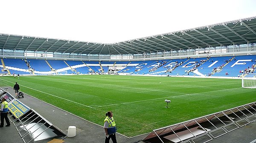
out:
{"label": "band of blue stadium seating with white lettering around the pitch", "polygon": [[[116,68],[117,73],[136,75],[163,76],[214,76],[240,77],[242,73],[255,73],[256,55],[222,56],[187,59],[168,59],[135,62],[92,62],[92,61],[60,61],[28,59],[30,68],[35,74],[67,74],[108,73],[110,67]],[[22,59],[4,59],[11,73],[31,74],[29,67]],[[66,63],[67,64],[66,64]],[[102,63],[102,64],[99,64]],[[3,66],[1,66],[3,70]],[[6,72],[4,72],[6,73]],[[3,74],[3,73],[2,73]]]}

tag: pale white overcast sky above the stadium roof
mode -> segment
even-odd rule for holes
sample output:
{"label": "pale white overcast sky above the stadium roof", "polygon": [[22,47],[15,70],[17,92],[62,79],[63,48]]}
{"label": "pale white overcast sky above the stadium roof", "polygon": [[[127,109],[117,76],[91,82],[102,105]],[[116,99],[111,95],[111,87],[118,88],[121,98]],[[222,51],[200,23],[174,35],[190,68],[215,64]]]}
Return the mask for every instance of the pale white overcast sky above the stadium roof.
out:
{"label": "pale white overcast sky above the stadium roof", "polygon": [[256,16],[256,0],[1,0],[0,33],[114,43]]}

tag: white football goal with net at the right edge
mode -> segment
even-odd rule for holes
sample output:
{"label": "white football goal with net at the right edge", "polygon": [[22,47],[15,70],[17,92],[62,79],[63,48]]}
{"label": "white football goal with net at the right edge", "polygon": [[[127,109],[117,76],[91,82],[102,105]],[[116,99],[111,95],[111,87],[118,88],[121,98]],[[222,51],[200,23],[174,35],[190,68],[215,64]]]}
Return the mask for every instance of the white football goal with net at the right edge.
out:
{"label": "white football goal with net at the right edge", "polygon": [[243,88],[256,88],[256,73],[242,74]]}

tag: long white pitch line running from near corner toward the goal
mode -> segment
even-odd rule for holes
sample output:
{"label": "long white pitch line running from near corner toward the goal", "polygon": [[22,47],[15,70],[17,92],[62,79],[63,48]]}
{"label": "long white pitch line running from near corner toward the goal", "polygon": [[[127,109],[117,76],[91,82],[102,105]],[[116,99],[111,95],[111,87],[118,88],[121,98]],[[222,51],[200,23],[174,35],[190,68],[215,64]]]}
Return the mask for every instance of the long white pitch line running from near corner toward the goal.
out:
{"label": "long white pitch line running from near corner toward the goal", "polygon": [[[224,90],[234,90],[234,89],[239,89],[239,88],[242,88],[242,87],[230,88],[230,89],[224,89]],[[218,92],[218,91],[224,91],[224,90],[207,91],[207,92],[202,92],[202,93],[212,93],[212,92]],[[195,94],[201,94],[201,93],[192,93],[192,94],[184,94],[184,95],[169,96],[169,97],[162,97],[162,98],[146,99],[146,100],[125,102],[125,103],[119,103],[119,104],[109,104],[109,105],[102,105],[102,106],[98,106],[98,107],[106,107],[106,106],[113,106],[113,105],[120,105],[120,104],[129,104],[129,103],[136,103],[136,102],[143,102],[143,101],[151,101],[151,100],[157,100],[157,99],[163,99],[163,98],[175,98],[175,97],[195,95]],[[97,107],[94,107],[94,108],[97,108]]]}

